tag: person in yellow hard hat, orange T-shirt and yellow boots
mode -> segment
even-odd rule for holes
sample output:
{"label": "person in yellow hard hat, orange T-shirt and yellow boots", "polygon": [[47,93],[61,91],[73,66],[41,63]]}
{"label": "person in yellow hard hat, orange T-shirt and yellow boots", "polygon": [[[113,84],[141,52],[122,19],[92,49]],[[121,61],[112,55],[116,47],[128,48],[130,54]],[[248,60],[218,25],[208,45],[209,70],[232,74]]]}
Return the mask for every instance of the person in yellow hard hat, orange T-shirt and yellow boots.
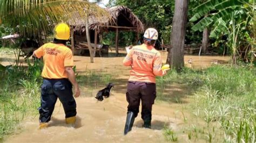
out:
{"label": "person in yellow hard hat, orange T-shirt and yellow boots", "polygon": [[41,107],[39,110],[39,128],[48,126],[57,98],[65,111],[66,124],[75,125],[76,101],[73,97],[72,85],[75,88],[75,97],[79,97],[80,90],[76,82],[72,67],[73,55],[66,41],[70,38],[70,28],[64,23],[55,26],[53,42],[39,47],[33,56],[44,59],[42,71],[43,84],[41,87]]}

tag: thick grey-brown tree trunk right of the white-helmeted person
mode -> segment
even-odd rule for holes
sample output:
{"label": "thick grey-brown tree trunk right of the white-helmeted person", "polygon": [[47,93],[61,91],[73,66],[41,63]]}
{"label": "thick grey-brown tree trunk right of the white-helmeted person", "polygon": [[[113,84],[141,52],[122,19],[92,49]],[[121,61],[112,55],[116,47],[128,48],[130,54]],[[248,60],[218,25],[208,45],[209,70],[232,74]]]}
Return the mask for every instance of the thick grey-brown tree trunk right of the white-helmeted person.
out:
{"label": "thick grey-brown tree trunk right of the white-helmeted person", "polygon": [[[172,68],[184,67],[184,42],[187,23],[188,0],[176,0],[172,22],[172,35],[167,61]],[[169,59],[169,60],[168,60]]]}

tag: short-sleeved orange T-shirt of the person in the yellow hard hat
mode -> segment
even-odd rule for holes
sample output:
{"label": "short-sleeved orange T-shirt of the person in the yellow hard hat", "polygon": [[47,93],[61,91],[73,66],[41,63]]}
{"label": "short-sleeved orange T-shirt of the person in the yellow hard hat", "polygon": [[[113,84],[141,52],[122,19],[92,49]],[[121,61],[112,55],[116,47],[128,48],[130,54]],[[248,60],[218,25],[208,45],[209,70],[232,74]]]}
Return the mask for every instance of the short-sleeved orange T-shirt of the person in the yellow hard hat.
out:
{"label": "short-sleeved orange T-shirt of the person in the yellow hard hat", "polygon": [[63,44],[47,43],[35,52],[37,58],[44,58],[42,76],[44,78],[68,78],[65,67],[74,66],[73,55],[70,48]]}

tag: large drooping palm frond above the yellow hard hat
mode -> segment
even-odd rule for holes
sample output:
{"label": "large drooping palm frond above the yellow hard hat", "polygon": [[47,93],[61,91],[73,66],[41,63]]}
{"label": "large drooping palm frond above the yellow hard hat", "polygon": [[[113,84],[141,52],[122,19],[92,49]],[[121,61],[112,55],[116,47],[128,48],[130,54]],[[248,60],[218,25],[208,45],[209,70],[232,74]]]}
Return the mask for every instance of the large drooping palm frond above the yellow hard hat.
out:
{"label": "large drooping palm frond above the yellow hard hat", "polygon": [[108,12],[96,4],[81,0],[1,0],[0,19],[12,27],[18,25],[21,35],[39,35],[50,31],[59,22],[76,23],[73,13],[86,21],[110,18]]}

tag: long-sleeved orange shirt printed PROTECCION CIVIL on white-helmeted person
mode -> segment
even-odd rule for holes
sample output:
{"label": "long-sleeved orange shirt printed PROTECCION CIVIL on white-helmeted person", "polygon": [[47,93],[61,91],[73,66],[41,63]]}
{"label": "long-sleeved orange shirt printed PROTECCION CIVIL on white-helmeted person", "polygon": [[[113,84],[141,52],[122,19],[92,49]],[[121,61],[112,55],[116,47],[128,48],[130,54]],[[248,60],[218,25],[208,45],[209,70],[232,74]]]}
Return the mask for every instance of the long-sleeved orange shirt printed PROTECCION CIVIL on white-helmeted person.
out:
{"label": "long-sleeved orange shirt printed PROTECCION CIVIL on white-helmeted person", "polygon": [[161,70],[161,54],[153,46],[134,46],[123,63],[132,68],[129,81],[156,83],[156,76],[166,74],[166,71]]}

